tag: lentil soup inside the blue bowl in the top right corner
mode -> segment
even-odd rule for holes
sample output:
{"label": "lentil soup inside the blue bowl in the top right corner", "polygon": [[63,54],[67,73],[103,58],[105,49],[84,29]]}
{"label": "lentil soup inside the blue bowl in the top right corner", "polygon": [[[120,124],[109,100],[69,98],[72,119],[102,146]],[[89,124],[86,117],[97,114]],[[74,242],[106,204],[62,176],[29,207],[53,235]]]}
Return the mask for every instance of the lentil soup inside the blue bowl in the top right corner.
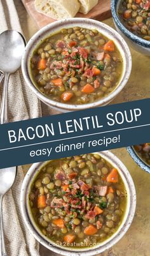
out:
{"label": "lentil soup inside the blue bowl in the top right corner", "polygon": [[150,0],[123,0],[118,14],[128,30],[150,41]]}

